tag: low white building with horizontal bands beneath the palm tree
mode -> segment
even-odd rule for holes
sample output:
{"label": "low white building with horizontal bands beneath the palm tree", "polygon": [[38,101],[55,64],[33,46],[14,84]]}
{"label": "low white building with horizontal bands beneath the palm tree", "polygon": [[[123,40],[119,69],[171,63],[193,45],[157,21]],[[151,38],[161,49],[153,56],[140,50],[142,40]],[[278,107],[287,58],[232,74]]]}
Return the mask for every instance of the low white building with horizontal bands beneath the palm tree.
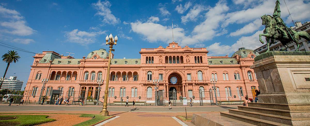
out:
{"label": "low white building with horizontal bands beneath the palm tree", "polygon": [[21,90],[21,87],[23,86],[23,81],[16,80],[16,76],[11,76],[10,78],[5,78],[1,90],[7,89],[7,90]]}

